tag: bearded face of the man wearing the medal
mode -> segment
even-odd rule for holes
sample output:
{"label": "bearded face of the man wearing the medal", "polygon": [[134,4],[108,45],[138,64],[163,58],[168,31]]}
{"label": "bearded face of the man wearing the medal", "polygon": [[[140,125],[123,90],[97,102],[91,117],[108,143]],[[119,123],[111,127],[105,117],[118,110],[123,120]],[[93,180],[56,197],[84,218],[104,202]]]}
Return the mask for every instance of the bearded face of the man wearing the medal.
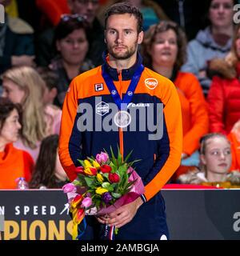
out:
{"label": "bearded face of the man wearing the medal", "polygon": [[131,14],[111,15],[106,23],[106,46],[115,59],[132,57],[142,42],[143,32],[138,34],[138,21]]}

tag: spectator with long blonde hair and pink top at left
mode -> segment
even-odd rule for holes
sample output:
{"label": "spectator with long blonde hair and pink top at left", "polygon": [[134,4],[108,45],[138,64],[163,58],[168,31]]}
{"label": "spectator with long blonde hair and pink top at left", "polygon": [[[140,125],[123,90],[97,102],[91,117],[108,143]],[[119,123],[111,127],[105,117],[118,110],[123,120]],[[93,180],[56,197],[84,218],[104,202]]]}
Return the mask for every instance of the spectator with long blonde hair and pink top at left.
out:
{"label": "spectator with long blonde hair and pink top at left", "polygon": [[51,107],[42,101],[45,82],[28,66],[7,70],[2,74],[2,80],[2,97],[22,105],[22,134],[14,146],[26,150],[35,162],[42,139],[59,133],[59,118],[54,120]]}

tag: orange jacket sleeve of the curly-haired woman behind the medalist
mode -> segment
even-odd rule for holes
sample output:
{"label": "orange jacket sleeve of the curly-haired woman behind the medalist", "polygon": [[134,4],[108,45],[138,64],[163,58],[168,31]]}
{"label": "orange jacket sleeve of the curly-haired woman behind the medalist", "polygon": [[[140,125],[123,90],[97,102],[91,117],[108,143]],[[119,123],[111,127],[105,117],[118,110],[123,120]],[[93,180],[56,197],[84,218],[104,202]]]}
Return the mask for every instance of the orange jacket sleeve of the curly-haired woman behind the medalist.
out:
{"label": "orange jacket sleeve of the curly-haired woman behind the medalist", "polygon": [[191,129],[183,137],[182,152],[190,155],[198,150],[200,138],[209,129],[207,104],[202,87],[194,76],[190,78],[186,97],[190,102]]}

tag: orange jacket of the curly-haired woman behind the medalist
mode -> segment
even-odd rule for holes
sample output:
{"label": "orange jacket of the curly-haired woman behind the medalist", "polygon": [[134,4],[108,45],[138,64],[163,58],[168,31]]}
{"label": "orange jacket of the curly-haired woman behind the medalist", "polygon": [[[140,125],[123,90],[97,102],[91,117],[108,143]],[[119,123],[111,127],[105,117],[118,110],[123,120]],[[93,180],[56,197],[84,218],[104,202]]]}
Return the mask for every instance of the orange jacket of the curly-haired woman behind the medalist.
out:
{"label": "orange jacket of the curly-haired woman behind the medalist", "polygon": [[191,155],[198,150],[200,138],[208,132],[207,104],[202,87],[193,74],[178,72],[174,85],[182,107],[182,152]]}

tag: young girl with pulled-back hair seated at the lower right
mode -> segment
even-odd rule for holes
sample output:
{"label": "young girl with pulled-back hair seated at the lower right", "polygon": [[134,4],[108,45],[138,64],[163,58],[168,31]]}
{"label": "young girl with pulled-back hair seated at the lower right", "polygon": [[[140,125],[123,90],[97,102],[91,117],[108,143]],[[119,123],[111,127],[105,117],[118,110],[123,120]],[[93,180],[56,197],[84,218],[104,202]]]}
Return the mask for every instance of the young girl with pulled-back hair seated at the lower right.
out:
{"label": "young girl with pulled-back hair seated at the lower right", "polygon": [[206,134],[201,140],[201,167],[178,177],[185,184],[202,184],[225,188],[240,187],[240,172],[230,171],[230,142],[223,134]]}

